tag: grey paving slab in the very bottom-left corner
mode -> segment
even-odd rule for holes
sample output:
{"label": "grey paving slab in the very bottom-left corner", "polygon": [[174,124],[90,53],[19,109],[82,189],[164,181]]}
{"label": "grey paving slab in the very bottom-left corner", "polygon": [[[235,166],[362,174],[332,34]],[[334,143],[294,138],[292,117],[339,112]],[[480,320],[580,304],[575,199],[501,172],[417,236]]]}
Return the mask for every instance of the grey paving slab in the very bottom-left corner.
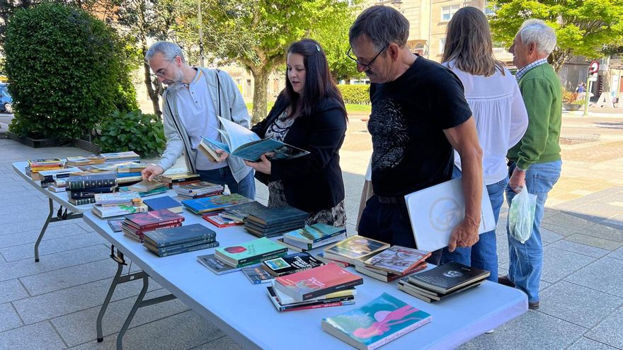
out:
{"label": "grey paving slab in the very bottom-left corner", "polygon": [[0,349],[58,350],[66,349],[50,322],[39,322],[0,333]]}

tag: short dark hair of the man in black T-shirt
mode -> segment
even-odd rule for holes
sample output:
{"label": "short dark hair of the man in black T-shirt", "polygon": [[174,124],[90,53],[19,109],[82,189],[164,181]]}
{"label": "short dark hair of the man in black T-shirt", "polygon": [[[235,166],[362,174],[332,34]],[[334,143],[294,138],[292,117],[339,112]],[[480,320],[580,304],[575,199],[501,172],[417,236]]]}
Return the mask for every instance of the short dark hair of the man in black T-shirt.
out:
{"label": "short dark hair of the man in black T-shirt", "polygon": [[406,45],[409,23],[405,16],[390,6],[370,6],[360,13],[348,31],[350,45],[362,34],[372,40],[377,51],[381,51],[390,42],[399,47]]}

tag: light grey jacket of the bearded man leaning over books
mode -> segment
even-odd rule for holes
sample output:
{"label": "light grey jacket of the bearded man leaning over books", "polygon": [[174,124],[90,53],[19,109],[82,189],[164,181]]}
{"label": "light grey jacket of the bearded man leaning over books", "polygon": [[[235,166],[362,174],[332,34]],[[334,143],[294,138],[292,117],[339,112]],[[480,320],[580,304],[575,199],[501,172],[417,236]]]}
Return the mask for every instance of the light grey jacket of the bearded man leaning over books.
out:
{"label": "light grey jacket of the bearded man leaning over books", "polygon": [[[232,79],[227,72],[220,71],[219,69],[199,69],[203,71],[205,80],[207,81],[207,89],[217,114],[220,113],[221,117],[232,120],[236,124],[240,124],[248,129],[250,124],[248,111],[246,110],[246,105],[238,90],[238,86],[234,83],[234,79]],[[164,92],[162,117],[164,122],[164,136],[166,137],[166,149],[158,165],[164,170],[167,170],[176,163],[182,152],[184,152],[188,170],[196,173],[195,158],[197,156],[197,150],[192,148],[190,137],[186,133],[186,129],[181,122],[180,115],[178,114],[177,98],[178,94],[175,89],[167,89]],[[232,174],[237,182],[244,179],[251,171],[251,168],[246,166],[241,158],[228,157],[227,163],[229,164],[229,168],[232,169]]]}

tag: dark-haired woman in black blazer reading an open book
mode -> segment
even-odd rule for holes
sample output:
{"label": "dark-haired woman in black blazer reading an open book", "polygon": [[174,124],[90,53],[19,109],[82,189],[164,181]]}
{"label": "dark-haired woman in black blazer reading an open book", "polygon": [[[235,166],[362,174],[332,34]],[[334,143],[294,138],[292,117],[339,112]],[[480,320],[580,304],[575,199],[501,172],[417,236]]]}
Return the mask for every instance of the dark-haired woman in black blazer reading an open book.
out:
{"label": "dark-haired woman in black blazer reading an open book", "polygon": [[339,151],[346,132],[344,101],[329,74],[318,42],[293,43],[287,50],[286,87],[268,117],[251,128],[309,151],[306,156],[272,160],[264,154],[245,163],[268,185],[268,206],[294,206],[307,211],[307,224],[345,226],[344,182]]}

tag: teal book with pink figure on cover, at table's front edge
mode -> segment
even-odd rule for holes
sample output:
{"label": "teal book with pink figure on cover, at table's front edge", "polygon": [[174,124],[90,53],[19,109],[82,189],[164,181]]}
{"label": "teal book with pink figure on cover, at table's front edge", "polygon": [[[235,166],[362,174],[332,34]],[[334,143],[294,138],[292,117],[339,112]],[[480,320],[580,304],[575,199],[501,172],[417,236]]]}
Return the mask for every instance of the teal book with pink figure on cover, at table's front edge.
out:
{"label": "teal book with pink figure on cover, at table's front edge", "polygon": [[322,319],[322,330],[361,350],[373,350],[432,320],[388,293],[341,315]]}

